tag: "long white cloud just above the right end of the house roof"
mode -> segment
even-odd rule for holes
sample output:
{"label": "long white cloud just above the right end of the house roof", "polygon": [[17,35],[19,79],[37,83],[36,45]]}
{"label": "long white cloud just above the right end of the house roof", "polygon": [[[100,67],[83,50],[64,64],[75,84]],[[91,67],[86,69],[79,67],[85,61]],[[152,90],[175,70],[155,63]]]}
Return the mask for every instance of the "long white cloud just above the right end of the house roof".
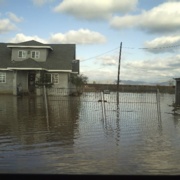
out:
{"label": "long white cloud just above the right end of the house roof", "polygon": [[106,38],[95,31],[88,29],[70,30],[65,34],[52,34],[48,40],[52,43],[99,44],[105,43]]}

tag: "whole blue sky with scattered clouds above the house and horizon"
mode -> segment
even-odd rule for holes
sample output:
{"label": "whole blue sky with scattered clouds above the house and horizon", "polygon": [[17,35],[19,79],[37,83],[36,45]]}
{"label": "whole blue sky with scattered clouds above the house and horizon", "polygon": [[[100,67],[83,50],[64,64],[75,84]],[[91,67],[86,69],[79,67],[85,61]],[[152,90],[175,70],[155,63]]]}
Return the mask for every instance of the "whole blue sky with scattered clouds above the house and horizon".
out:
{"label": "whole blue sky with scattered clouds above the house and horizon", "polygon": [[180,0],[0,0],[0,42],[29,40],[76,44],[89,83],[120,59],[120,80],[158,84],[180,77]]}

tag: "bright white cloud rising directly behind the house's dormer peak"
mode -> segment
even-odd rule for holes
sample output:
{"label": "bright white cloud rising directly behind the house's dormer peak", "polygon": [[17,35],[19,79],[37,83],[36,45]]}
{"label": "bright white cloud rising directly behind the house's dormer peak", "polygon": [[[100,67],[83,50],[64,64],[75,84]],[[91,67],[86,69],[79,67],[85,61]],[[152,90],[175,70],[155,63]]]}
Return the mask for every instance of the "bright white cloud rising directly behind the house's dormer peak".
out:
{"label": "bright white cloud rising directly behind the house's dormer peak", "polygon": [[16,34],[16,36],[12,39],[9,40],[9,42],[12,43],[19,43],[23,41],[30,41],[30,40],[35,40],[41,43],[47,43],[44,39],[39,38],[38,36],[26,36],[24,34]]}

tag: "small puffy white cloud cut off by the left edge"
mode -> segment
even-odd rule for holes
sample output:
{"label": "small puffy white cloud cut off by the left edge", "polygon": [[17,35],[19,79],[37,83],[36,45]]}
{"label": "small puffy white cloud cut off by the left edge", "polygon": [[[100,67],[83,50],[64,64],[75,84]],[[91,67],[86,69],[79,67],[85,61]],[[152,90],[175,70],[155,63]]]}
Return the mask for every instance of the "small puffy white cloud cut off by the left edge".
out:
{"label": "small puffy white cloud cut off by the left edge", "polygon": [[0,34],[14,29],[16,29],[16,26],[9,19],[0,19]]}

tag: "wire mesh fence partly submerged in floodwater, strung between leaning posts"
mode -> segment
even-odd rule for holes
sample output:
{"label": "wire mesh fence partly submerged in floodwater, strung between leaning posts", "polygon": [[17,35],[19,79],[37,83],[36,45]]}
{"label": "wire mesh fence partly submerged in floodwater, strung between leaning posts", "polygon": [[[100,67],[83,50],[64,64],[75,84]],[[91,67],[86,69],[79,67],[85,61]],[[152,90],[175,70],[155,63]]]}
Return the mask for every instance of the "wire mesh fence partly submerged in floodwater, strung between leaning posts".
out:
{"label": "wire mesh fence partly submerged in floodwater, strung between leaning posts", "polygon": [[70,96],[65,89],[53,92],[56,93],[48,96],[50,118],[138,122],[161,118],[157,92],[119,92],[119,101],[117,92],[110,91],[83,92],[80,96]]}

